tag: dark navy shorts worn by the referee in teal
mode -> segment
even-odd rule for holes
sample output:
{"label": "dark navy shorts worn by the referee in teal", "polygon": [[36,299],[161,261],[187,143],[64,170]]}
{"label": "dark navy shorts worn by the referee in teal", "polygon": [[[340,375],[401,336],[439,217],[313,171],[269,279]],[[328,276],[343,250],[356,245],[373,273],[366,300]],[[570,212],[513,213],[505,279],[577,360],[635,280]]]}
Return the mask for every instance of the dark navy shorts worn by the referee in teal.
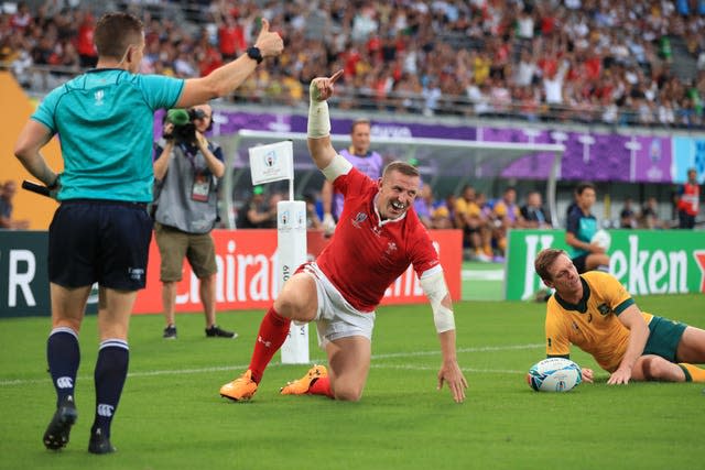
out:
{"label": "dark navy shorts worn by the referee in teal", "polygon": [[63,201],[48,228],[48,278],[64,287],[144,288],[151,238],[144,204]]}

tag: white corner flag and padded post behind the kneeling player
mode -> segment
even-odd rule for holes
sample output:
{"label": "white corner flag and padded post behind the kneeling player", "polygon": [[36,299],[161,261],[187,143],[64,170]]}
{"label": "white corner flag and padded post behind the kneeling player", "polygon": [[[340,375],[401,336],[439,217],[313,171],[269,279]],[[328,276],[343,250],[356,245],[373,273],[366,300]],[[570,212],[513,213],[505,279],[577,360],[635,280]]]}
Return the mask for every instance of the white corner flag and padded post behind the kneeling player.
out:
{"label": "white corner flag and padded post behind the kneeling player", "polygon": [[[252,185],[289,179],[289,200],[276,204],[276,292],[306,261],[306,203],[294,200],[292,141],[249,149]],[[281,348],[282,363],[308,363],[308,325],[291,324]]]}

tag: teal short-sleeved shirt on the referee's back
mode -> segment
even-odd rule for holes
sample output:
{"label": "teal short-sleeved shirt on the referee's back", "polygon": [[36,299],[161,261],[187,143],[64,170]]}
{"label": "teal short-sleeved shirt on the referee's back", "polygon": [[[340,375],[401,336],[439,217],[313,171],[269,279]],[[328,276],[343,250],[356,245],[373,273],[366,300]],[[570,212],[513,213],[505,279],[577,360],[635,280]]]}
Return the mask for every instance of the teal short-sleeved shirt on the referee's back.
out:
{"label": "teal short-sleeved shirt on the referee's back", "polygon": [[32,119],[57,133],[58,200],[152,201],[154,111],[178,101],[184,80],[97,68],[52,90]]}

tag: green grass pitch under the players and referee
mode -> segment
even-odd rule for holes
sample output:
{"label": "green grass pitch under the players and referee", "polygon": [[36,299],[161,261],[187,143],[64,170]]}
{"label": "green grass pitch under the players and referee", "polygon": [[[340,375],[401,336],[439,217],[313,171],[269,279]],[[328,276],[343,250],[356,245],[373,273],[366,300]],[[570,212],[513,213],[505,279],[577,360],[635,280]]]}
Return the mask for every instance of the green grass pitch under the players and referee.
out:
{"label": "green grass pitch under the players and referee", "polygon": [[[642,309],[705,327],[705,296],[650,296]],[[220,313],[236,340],[206,338],[203,315],[180,315],[180,338],[161,338],[161,315],[134,316],[130,375],[112,426],[118,452],[87,452],[93,422],[96,318],[80,335],[79,411],[68,447],[44,449],[54,409],[46,373],[48,318],[0,320],[0,468],[76,469],[668,469],[702,468],[703,384],[633,383],[607,373],[570,393],[536,393],[524,375],[544,357],[544,306],[456,304],[467,401],[436,391],[441,362],[427,306],[383,307],[359,403],[281,396],[305,365],[275,357],[249,403],[219,386],[250,359],[262,311]],[[312,360],[323,362],[313,343]],[[597,371],[579,351],[572,359]]]}

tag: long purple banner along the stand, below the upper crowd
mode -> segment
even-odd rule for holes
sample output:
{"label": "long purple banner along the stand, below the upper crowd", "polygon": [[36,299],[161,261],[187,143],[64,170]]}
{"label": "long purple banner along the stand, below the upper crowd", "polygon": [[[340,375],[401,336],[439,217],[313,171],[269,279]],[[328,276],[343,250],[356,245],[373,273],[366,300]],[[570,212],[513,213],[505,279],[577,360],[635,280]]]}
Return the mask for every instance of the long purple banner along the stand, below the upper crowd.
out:
{"label": "long purple banner along the stand, below the upper crowd", "polygon": [[[234,135],[240,129],[274,132],[306,132],[306,116],[267,114],[216,110],[214,135]],[[332,132],[347,134],[351,119],[332,118]],[[161,120],[155,121],[161,134]],[[705,175],[705,140],[691,136],[654,136],[562,131],[550,128],[485,128],[420,122],[372,122],[375,138],[433,138],[486,142],[562,143],[566,146],[561,165],[563,179],[596,182],[679,183],[687,167]],[[509,162],[505,178],[545,179],[553,154],[539,153]]]}

